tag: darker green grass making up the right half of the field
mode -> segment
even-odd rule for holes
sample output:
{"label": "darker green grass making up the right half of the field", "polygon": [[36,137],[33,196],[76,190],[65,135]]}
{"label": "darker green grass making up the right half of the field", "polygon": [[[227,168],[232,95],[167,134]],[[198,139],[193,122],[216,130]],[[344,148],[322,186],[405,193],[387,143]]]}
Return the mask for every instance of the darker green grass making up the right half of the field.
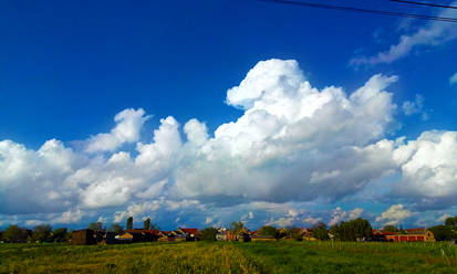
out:
{"label": "darker green grass making up the right half of the field", "polygon": [[269,273],[457,273],[457,247],[448,243],[270,242],[239,247]]}

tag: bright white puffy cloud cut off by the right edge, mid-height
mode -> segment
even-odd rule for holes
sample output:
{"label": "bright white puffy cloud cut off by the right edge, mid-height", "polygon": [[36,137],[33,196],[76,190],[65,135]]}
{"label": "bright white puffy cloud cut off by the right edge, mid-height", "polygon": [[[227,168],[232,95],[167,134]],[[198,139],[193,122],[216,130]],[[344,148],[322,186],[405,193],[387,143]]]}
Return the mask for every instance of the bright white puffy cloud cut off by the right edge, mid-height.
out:
{"label": "bright white puffy cloud cut off by the right edge, mid-height", "polygon": [[457,131],[425,131],[399,146],[394,160],[402,170],[396,192],[444,207],[457,198]]}

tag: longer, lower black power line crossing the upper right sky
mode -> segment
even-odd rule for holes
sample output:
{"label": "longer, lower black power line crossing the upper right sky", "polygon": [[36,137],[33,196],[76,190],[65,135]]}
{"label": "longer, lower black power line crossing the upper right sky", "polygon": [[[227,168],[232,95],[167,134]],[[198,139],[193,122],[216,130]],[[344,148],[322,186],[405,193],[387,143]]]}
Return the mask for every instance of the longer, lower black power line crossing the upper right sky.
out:
{"label": "longer, lower black power line crossing the upper right sky", "polygon": [[293,0],[258,0],[258,1],[272,2],[272,3],[282,3],[282,4],[293,4],[293,6],[320,8],[320,9],[329,9],[329,10],[365,12],[365,13],[374,13],[374,14],[382,14],[382,15],[405,17],[405,18],[415,18],[415,19],[424,19],[424,20],[457,23],[457,18],[430,17],[430,15],[424,15],[424,14],[412,14],[412,13],[396,12],[396,11],[385,11],[385,10],[370,10],[370,9],[362,9],[362,8],[355,8],[355,7],[332,6],[332,4],[323,4],[323,3],[310,3],[310,2],[293,1]]}

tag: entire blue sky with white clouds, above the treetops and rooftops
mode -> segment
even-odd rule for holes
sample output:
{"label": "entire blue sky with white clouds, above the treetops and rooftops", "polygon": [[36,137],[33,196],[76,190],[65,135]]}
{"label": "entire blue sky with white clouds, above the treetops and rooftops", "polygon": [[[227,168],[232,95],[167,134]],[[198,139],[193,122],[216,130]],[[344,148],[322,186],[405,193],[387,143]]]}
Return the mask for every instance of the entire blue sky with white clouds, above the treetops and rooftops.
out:
{"label": "entire blue sky with white clouds, above the treetops and rooftops", "polygon": [[[424,14],[451,12],[381,0],[363,6],[351,0],[329,2]],[[253,228],[263,223],[307,226],[318,219],[326,223],[346,220],[351,213],[376,225],[437,223],[437,215],[457,213],[453,202],[457,159],[442,155],[455,151],[457,143],[453,131],[457,129],[457,83],[450,80],[457,73],[456,29],[445,22],[259,1],[3,1],[0,225],[51,222],[81,226],[98,218],[123,223],[126,214],[134,214],[135,220],[154,217],[164,228],[201,228],[232,220],[247,221]],[[250,70],[277,81],[261,86],[264,81],[253,80],[255,84],[243,86],[241,81],[249,78]],[[378,74],[383,76],[370,82]],[[281,78],[294,84],[284,85]],[[382,106],[350,101],[356,106],[343,120],[335,118],[335,108],[315,114],[319,120],[310,123],[325,123],[331,129],[313,128],[318,137],[312,139],[305,137],[311,130],[308,124],[295,125],[309,114],[281,113],[273,105],[256,108],[261,115],[288,116],[287,122],[274,119],[284,123],[276,126],[288,138],[293,137],[288,133],[302,130],[293,141],[282,136],[287,140],[281,139],[281,151],[287,154],[274,150],[276,155],[259,156],[262,149],[277,148],[273,133],[278,128],[269,135],[263,133],[268,123],[259,126],[260,131],[249,129],[270,116],[248,117],[249,109],[256,109],[245,103],[271,102],[247,94],[263,88],[277,96],[276,88],[299,88],[294,81],[308,81],[319,92],[335,86],[346,99],[368,85],[376,89],[374,101]],[[232,87],[237,88],[230,89],[230,101],[228,89]],[[295,91],[291,96],[293,101],[304,95]],[[329,96],[334,104],[346,104],[336,93],[325,98]],[[307,104],[297,107],[326,109],[318,101]],[[114,122],[117,114],[122,115]],[[371,115],[372,119],[361,120]],[[235,129],[218,129],[240,117],[251,124],[245,129],[240,129],[241,124],[232,126]],[[197,120],[186,130],[191,119]],[[349,120],[351,126],[335,129]],[[118,129],[116,125],[121,125]],[[367,131],[370,126],[372,131]],[[216,154],[215,147],[227,145],[218,140],[222,138],[215,135],[217,129],[232,139],[227,151]],[[233,131],[252,136],[245,140]],[[195,149],[186,146],[191,143],[189,133],[197,136],[195,143],[202,150],[188,151]],[[330,138],[332,135],[342,136],[341,140]],[[403,143],[396,140],[403,136]],[[55,140],[48,143],[46,149],[52,150],[53,161],[64,162],[62,166],[42,164],[41,148],[51,139]],[[360,150],[354,151],[368,151],[370,146],[382,147],[382,141],[392,143],[388,160],[363,167],[361,162],[370,162],[371,156],[347,152],[355,147]],[[138,143],[146,148],[138,149]],[[307,146],[313,149],[303,148]],[[436,149],[427,149],[430,146]],[[335,147],[341,151],[332,150]],[[398,160],[405,150],[408,156]],[[122,152],[128,154],[128,159]],[[209,157],[211,152],[216,160]],[[202,160],[201,154],[209,158]],[[115,155],[126,162],[113,171],[110,160]],[[153,159],[146,157],[150,155]],[[141,159],[145,173],[131,175],[138,167],[128,165],[139,165]],[[239,161],[253,159],[261,162],[251,162],[246,170],[238,167]],[[353,161],[352,166],[343,167],[345,161]],[[304,166],[314,168],[301,173]],[[345,168],[366,170],[340,175]],[[271,170],[283,177],[272,176]],[[91,172],[106,176],[95,178]],[[322,179],[319,188],[311,183],[324,173],[340,176]],[[240,183],[231,181],[235,179]],[[298,194],[281,188],[289,180]],[[112,192],[105,191],[113,186]],[[343,187],[346,191],[329,190]],[[226,188],[228,193],[219,191]],[[427,188],[437,191],[417,191]],[[31,189],[34,194],[28,192]],[[315,193],[319,198],[311,198]],[[113,199],[97,203],[104,201],[98,196]]]}

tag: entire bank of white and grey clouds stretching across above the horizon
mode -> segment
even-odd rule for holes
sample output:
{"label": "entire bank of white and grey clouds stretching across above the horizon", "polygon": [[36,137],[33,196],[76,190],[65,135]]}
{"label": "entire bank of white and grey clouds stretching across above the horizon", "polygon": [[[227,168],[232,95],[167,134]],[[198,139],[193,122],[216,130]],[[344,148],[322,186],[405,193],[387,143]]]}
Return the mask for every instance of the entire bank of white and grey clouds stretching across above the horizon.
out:
{"label": "entire bank of white and grey clouds stretching across above the horizon", "polygon": [[[326,217],[300,207],[351,199],[392,175],[392,203],[450,209],[457,205],[457,133],[390,139],[397,106],[388,86],[396,81],[376,74],[351,93],[318,89],[295,61],[268,60],[228,89],[227,104],[243,114],[214,133],[198,119],[181,125],[168,116],[145,140],[141,131],[150,130],[144,128],[150,116],[138,108],[118,113],[113,129],[83,141],[83,149],[56,139],[38,150],[2,140],[0,214],[75,223],[96,220],[97,212],[115,222],[166,213],[177,224],[238,218],[303,225],[370,217],[360,205]],[[125,149],[128,143],[136,151]],[[391,211],[378,221],[401,219]]]}

